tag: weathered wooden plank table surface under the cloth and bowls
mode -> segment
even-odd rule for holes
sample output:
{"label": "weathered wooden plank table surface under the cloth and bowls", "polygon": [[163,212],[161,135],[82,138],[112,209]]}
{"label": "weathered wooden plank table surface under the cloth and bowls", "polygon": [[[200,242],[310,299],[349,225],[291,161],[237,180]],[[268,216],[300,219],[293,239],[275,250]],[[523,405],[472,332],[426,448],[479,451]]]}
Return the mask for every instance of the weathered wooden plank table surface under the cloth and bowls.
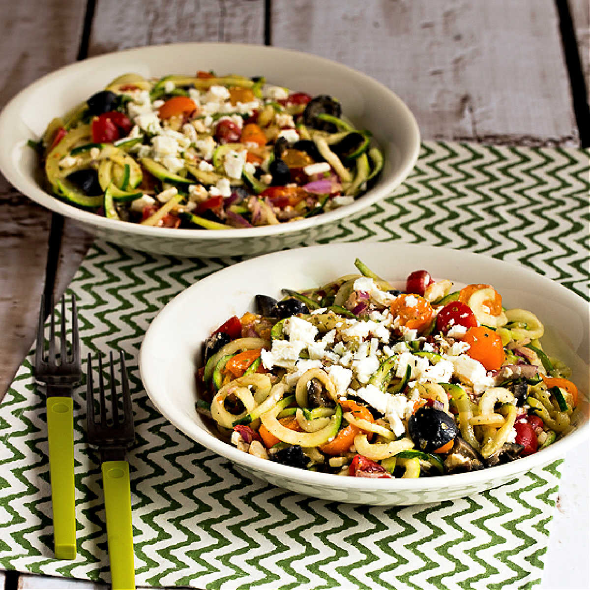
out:
{"label": "weathered wooden plank table surface under the cloth and bowls", "polygon": [[[27,84],[84,57],[168,42],[245,42],[368,73],[408,104],[424,139],[586,147],[588,12],[588,0],[2,0],[0,108]],[[0,237],[2,399],[34,339],[46,274],[58,296],[91,237],[2,176]],[[583,504],[588,526],[587,451],[566,462],[560,496],[543,588],[588,588],[587,567],[550,565],[576,563],[572,555],[588,562],[587,530],[575,534]],[[0,588],[3,576],[6,589],[64,587],[0,572]]]}

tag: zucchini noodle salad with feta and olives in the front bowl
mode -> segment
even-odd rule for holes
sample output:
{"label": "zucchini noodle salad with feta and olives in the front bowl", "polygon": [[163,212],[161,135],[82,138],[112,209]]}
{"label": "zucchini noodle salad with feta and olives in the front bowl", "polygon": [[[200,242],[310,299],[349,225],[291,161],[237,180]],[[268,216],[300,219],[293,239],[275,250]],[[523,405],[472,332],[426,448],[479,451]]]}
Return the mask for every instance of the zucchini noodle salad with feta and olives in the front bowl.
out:
{"label": "zucchini noodle salad with feta and olives in the front bowl", "polygon": [[197,409],[256,457],[351,477],[430,477],[536,453],[572,428],[578,389],[543,324],[489,284],[360,260],[312,290],[257,295],[207,339]]}

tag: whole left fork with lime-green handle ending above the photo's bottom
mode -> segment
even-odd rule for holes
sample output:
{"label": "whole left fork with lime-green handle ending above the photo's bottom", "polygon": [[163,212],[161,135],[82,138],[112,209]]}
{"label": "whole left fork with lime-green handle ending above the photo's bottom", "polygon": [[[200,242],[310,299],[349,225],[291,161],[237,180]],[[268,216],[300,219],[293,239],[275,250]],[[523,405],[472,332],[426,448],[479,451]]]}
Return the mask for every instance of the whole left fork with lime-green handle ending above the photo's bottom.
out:
{"label": "whole left fork with lime-green handle ending above the photo's bottom", "polygon": [[68,356],[65,332],[65,295],[61,297],[60,355],[55,351],[55,309],[51,297],[50,339],[44,356],[45,297],[41,300],[37,349],[35,351],[35,381],[45,386],[47,394],[47,440],[51,504],[53,506],[54,553],[58,559],[76,558],[76,494],[74,484],[74,412],[72,392],[81,381],[80,336],[76,297],[71,303],[71,355]]}

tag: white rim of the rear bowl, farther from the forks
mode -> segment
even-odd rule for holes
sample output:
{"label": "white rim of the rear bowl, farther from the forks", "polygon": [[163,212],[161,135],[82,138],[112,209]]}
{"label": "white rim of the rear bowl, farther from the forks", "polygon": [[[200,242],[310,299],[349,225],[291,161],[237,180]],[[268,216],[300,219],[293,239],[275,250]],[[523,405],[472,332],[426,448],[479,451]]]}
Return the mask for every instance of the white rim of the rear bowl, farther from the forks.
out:
{"label": "white rim of the rear bowl, farther from the forks", "polygon": [[354,68],[351,68],[348,65],[340,64],[336,61],[329,60],[318,55],[305,53],[303,51],[283,49],[280,47],[268,47],[265,45],[253,45],[243,43],[201,42],[148,45],[146,47],[135,47],[123,51],[113,51],[110,53],[97,55],[95,57],[90,57],[86,60],[78,61],[73,64],[65,65],[64,67],[61,67],[58,70],[55,70],[52,73],[47,74],[39,80],[31,83],[29,86],[19,91],[19,93],[16,96],[14,96],[8,104],[6,104],[6,106],[0,113],[0,137],[9,135],[8,133],[5,133],[5,130],[11,128],[11,121],[13,117],[17,116],[19,104],[22,100],[24,100],[27,97],[28,93],[47,83],[47,81],[62,76],[64,73],[77,70],[84,71],[86,70],[86,68],[91,67],[91,64],[101,60],[112,59],[114,56],[126,55],[132,57],[133,54],[141,54],[146,51],[164,51],[171,49],[181,51],[191,50],[191,48],[201,48],[202,50],[211,48],[213,50],[216,47],[218,48],[220,45],[235,48],[243,48],[245,51],[264,51],[265,53],[272,52],[277,54],[277,58],[280,57],[280,55],[291,55],[292,57],[304,55],[306,56],[306,58],[311,57],[314,60],[317,60],[321,63],[330,65],[330,67],[340,69],[343,72],[347,72],[349,75],[356,76],[360,78],[360,80],[363,80],[364,83],[367,84],[369,87],[372,86],[374,88],[379,88],[382,91],[388,93],[390,95],[392,102],[394,102],[396,106],[401,110],[401,112],[404,113],[404,117],[407,119],[407,123],[411,128],[411,137],[409,137],[408,142],[411,143],[412,149],[411,151],[405,153],[404,156],[402,156],[401,168],[398,174],[396,174],[394,178],[390,179],[382,186],[373,188],[365,195],[362,195],[360,198],[355,199],[355,201],[352,204],[345,205],[344,207],[339,207],[337,209],[334,209],[333,211],[329,211],[321,215],[316,215],[315,217],[309,217],[301,219],[299,221],[293,221],[284,224],[263,225],[254,228],[234,228],[232,230],[183,229],[182,231],[179,231],[173,228],[149,227],[146,225],[138,225],[129,222],[119,221],[117,219],[107,219],[106,217],[100,217],[99,215],[96,215],[89,211],[83,211],[83,209],[78,209],[73,205],[68,205],[63,201],[60,201],[59,199],[55,198],[55,196],[50,195],[49,193],[42,190],[38,183],[34,182],[34,180],[30,178],[30,176],[22,175],[18,171],[18,169],[12,162],[11,158],[12,149],[14,148],[14,146],[12,145],[8,146],[2,145],[0,143],[0,170],[12,185],[14,185],[23,194],[29,196],[32,200],[38,202],[38,204],[50,209],[51,211],[64,215],[65,217],[70,217],[76,219],[77,221],[83,222],[84,224],[93,225],[106,230],[110,229],[120,232],[126,232],[128,234],[135,234],[142,237],[176,238],[178,240],[195,240],[197,238],[199,240],[219,240],[221,238],[227,240],[234,238],[257,238],[264,237],[267,235],[298,232],[306,230],[310,227],[328,224],[332,221],[337,221],[344,217],[349,217],[350,215],[353,215],[356,212],[362,211],[362,209],[369,207],[376,201],[379,201],[379,199],[391,195],[392,192],[396,188],[398,188],[398,186],[405,180],[405,178],[407,178],[408,174],[412,171],[412,168],[414,168],[414,165],[418,160],[420,150],[420,132],[418,128],[418,123],[414,117],[414,114],[412,114],[412,112],[409,110],[407,104],[405,104],[404,101],[402,101],[397,96],[397,94],[394,93],[394,91],[390,90],[384,84],[381,84],[380,82],[375,80],[375,78],[372,78],[363,72],[355,70]]}

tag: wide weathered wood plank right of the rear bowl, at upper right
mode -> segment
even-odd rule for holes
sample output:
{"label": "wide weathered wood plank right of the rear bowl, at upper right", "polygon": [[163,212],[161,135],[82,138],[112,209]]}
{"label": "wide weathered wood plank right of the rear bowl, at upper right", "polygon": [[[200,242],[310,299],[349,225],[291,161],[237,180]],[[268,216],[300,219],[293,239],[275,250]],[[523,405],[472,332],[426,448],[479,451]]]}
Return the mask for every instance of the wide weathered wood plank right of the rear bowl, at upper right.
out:
{"label": "wide weathered wood plank right of the rear bowl, at upper right", "polygon": [[551,0],[274,0],[271,14],[273,45],[377,78],[426,139],[578,141]]}

